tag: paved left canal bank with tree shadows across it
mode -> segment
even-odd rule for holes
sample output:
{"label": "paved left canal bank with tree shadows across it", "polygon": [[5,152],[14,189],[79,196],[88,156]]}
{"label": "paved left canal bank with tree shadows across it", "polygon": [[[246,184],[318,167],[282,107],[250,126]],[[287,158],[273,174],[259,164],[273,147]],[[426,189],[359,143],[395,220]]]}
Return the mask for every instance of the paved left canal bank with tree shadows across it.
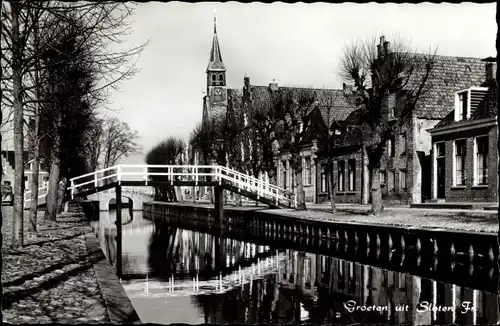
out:
{"label": "paved left canal bank with tree shadows across it", "polygon": [[12,207],[2,213],[4,323],[140,323],[83,210],[56,221],[40,211],[36,233],[25,214],[19,249],[9,247]]}

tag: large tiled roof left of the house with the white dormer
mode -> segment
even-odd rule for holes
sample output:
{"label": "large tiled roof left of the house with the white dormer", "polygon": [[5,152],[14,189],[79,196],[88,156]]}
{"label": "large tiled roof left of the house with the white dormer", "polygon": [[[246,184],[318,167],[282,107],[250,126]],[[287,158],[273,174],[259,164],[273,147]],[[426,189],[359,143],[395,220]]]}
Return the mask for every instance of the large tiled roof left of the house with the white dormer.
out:
{"label": "large tiled roof left of the house with the white dormer", "polygon": [[[413,80],[417,81],[421,76],[422,71]],[[443,119],[455,106],[455,92],[481,85],[484,79],[484,62],[481,58],[436,55],[425,93],[417,103],[416,116]],[[415,87],[412,80],[408,85],[408,88]]]}

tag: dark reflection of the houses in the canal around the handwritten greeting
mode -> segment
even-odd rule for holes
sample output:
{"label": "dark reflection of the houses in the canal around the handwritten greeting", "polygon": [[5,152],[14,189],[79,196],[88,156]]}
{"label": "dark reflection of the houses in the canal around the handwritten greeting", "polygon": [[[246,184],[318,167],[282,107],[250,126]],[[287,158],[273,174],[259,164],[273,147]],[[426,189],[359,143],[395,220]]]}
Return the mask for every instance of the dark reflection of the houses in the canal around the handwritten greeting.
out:
{"label": "dark reflection of the houses in the canal around the handwritten greeting", "polygon": [[[277,275],[266,275],[224,295],[197,297],[206,321],[471,325],[496,323],[499,318],[493,293],[333,257],[291,250],[286,250],[286,257]],[[353,312],[344,306],[349,301],[355,302]],[[466,302],[476,308],[462,313]],[[383,309],[361,311],[362,306]],[[432,311],[432,307],[448,311]]]}

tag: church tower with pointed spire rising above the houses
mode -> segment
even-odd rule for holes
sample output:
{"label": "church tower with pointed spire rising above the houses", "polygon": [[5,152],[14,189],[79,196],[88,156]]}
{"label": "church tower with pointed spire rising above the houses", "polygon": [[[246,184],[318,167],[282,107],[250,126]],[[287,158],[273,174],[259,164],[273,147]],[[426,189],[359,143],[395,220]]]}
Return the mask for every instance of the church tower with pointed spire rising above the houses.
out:
{"label": "church tower with pointed spire rising above the houses", "polygon": [[223,116],[227,110],[226,67],[217,37],[217,21],[214,17],[214,37],[207,70],[207,93],[203,100],[203,120]]}

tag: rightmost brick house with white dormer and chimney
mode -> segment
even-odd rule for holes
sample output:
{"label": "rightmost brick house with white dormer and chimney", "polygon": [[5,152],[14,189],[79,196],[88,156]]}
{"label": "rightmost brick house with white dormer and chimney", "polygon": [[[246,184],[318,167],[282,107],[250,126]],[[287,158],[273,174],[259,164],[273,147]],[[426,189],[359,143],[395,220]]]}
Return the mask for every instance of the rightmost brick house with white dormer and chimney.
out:
{"label": "rightmost brick house with white dormer and chimney", "polygon": [[495,61],[484,59],[485,82],[454,92],[454,109],[429,130],[433,201],[498,200]]}

